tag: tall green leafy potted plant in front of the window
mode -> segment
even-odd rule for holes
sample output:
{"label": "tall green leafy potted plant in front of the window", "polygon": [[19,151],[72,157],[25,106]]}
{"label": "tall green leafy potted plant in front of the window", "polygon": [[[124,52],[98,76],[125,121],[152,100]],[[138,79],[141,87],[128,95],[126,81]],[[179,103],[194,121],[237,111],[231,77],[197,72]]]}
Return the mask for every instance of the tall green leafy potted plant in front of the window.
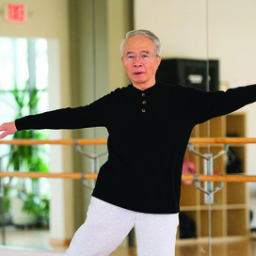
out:
{"label": "tall green leafy potted plant in front of the window", "polygon": [[[14,83],[14,89],[11,91],[15,100],[18,113],[15,119],[19,119],[27,114],[35,114],[38,112],[37,107],[40,101],[40,90],[36,87],[29,88],[28,81],[23,90],[19,90],[17,84]],[[13,139],[46,139],[47,135],[41,131],[20,131],[15,133]],[[14,150],[14,146],[10,147],[10,152]],[[10,171],[48,171],[48,163],[45,146],[17,146],[16,151],[11,153],[8,159],[8,170]],[[35,224],[40,219],[44,226],[49,221],[49,199],[41,196],[39,193],[39,179],[11,178],[6,187],[9,187],[11,193],[6,197],[6,209],[11,208],[11,216],[13,224],[28,225]],[[10,198],[10,199],[9,199]],[[19,217],[20,216],[20,217]]]}

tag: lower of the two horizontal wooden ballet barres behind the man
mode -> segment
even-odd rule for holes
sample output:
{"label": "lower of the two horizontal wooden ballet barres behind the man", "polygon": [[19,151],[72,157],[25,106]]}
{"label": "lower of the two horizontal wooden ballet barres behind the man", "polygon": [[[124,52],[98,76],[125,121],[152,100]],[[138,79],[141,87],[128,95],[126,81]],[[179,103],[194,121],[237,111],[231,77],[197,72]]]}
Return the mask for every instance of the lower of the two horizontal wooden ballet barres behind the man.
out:
{"label": "lower of the two horizontal wooden ballet barres behind the man", "polygon": [[[157,175],[157,174],[155,174]],[[47,173],[47,172],[0,172],[1,177],[19,177],[19,178],[56,178],[56,179],[86,179],[96,180],[97,173]],[[196,177],[196,179],[195,179]],[[184,174],[182,181],[197,181],[197,182],[227,182],[227,183],[256,183],[256,176],[249,175],[193,175]]]}

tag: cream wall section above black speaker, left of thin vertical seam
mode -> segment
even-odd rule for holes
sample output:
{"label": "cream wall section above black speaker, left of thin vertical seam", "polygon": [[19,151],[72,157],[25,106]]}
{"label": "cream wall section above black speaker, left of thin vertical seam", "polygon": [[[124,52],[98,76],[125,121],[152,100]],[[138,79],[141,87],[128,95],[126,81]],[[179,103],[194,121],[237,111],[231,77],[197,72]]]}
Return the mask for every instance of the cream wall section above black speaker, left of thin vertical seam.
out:
{"label": "cream wall section above black speaker, left of thin vertical seam", "polygon": [[135,28],[159,37],[163,58],[205,58],[205,9],[205,0],[135,0]]}

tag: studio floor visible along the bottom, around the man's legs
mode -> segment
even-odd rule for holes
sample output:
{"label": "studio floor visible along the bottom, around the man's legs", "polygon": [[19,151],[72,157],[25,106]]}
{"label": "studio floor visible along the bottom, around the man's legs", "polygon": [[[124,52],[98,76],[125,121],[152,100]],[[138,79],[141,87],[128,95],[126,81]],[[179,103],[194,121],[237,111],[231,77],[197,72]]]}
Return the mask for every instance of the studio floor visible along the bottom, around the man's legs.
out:
{"label": "studio floor visible along the bottom, around the man's legs", "polygon": [[[0,244],[2,233],[0,233]],[[54,250],[64,252],[65,247],[51,247],[49,244],[49,232],[47,231],[17,231],[15,229],[6,232],[7,247],[36,248],[37,250]],[[60,254],[61,255],[61,254]],[[136,248],[118,248],[111,256],[136,256]],[[208,242],[204,243],[178,243],[176,256],[207,256],[209,255]],[[236,239],[213,241],[212,256],[256,256],[256,239]],[[4,255],[3,255],[4,256]],[[156,255],[161,256],[161,255]]]}

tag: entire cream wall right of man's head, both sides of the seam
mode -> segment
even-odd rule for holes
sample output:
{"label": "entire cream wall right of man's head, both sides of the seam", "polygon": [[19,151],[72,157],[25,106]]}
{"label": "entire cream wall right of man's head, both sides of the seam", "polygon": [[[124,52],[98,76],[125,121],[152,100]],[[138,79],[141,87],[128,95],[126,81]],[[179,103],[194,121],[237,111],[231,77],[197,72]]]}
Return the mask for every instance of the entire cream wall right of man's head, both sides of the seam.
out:
{"label": "entire cream wall right of man's head, both sides of the seam", "polygon": [[[256,82],[255,12],[255,0],[135,0],[135,28],[159,37],[164,58],[219,59],[220,81],[237,87]],[[256,104],[243,111],[247,136],[256,137]],[[255,152],[256,145],[249,145],[248,174],[256,175]],[[250,193],[254,187],[250,184]]]}

